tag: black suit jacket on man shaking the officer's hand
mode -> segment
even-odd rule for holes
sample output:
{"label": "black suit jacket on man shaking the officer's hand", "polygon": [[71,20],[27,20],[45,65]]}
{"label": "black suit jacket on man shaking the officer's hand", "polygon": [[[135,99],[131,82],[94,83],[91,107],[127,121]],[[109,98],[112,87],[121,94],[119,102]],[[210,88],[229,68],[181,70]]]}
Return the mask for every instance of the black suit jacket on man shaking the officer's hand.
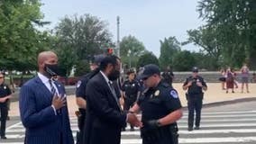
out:
{"label": "black suit jacket on man shaking the officer's hand", "polygon": [[121,112],[104,76],[98,73],[87,84],[86,144],[120,144],[126,114]]}

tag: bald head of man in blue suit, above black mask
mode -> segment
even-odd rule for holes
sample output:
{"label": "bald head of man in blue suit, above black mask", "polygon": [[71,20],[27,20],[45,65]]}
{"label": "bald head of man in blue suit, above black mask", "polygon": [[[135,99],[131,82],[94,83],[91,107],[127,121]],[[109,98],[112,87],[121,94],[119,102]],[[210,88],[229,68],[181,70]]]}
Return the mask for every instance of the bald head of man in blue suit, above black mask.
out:
{"label": "bald head of man in blue suit, above black mask", "polygon": [[37,58],[39,72],[44,73],[45,64],[58,64],[58,57],[53,51],[42,51]]}

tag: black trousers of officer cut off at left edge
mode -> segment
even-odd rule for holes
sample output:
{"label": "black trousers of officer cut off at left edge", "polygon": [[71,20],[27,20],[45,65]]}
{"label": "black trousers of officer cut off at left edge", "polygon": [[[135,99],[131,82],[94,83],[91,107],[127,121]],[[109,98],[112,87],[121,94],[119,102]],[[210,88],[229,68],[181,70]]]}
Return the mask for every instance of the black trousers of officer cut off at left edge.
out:
{"label": "black trousers of officer cut off at left edge", "polygon": [[1,112],[0,135],[1,137],[3,137],[5,136],[6,118],[8,115],[8,108],[6,104],[0,103],[0,112]]}

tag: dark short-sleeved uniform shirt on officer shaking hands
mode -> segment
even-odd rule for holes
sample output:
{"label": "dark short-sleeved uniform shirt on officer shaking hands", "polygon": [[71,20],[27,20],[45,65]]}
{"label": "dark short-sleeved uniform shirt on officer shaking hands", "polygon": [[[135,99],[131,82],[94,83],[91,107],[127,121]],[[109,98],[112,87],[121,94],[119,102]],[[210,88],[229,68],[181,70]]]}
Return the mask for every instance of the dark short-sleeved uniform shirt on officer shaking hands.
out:
{"label": "dark short-sleeved uniform shirt on officer shaking hands", "polygon": [[142,110],[142,121],[158,120],[182,107],[177,91],[163,82],[142,94],[138,104]]}

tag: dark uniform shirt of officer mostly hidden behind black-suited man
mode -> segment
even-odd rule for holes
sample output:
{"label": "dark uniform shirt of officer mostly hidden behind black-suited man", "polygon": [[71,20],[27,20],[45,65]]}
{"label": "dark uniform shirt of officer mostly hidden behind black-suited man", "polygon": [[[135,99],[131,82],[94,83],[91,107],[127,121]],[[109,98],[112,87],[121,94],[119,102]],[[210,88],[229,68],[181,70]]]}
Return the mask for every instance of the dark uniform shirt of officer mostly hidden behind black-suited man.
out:
{"label": "dark uniform shirt of officer mostly hidden behind black-suited man", "polygon": [[87,99],[86,97],[86,88],[87,88],[87,83],[88,80],[94,76],[94,72],[90,72],[85,76],[82,76],[80,80],[78,80],[77,83],[77,89],[76,89],[76,97],[81,97],[84,98],[85,100]]}

